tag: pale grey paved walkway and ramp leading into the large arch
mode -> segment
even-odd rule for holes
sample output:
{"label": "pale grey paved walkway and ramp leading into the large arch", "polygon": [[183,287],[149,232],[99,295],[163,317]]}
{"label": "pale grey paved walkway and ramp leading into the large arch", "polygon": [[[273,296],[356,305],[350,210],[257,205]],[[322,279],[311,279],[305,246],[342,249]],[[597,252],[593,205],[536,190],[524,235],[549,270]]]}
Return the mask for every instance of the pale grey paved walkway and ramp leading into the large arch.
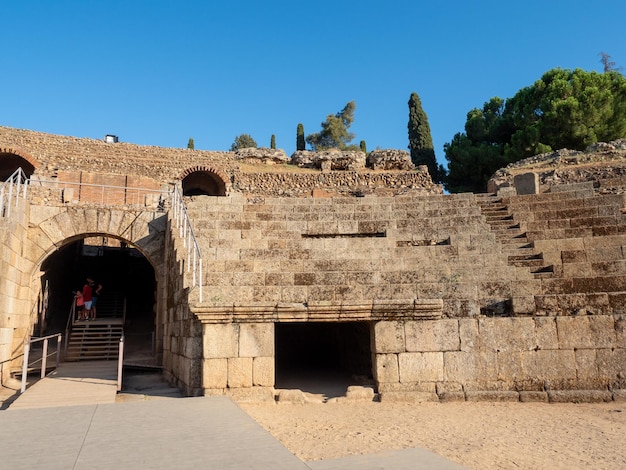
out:
{"label": "pale grey paved walkway and ramp leading into the large arch", "polygon": [[302,462],[226,397],[171,398],[176,394],[151,376],[129,377],[116,400],[116,370],[78,364],[62,364],[0,411],[0,468],[463,468],[423,449]]}

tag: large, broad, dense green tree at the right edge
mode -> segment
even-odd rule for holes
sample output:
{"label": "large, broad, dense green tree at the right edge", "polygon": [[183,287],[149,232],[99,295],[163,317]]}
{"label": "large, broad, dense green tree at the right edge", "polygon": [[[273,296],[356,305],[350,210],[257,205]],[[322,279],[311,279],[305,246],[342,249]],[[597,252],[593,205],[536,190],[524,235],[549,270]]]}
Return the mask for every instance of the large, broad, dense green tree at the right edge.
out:
{"label": "large, broad, dense green tree at the right edge", "polygon": [[465,132],[444,145],[446,189],[486,189],[509,163],[561,148],[626,137],[626,78],[620,73],[552,69],[506,101],[467,113]]}

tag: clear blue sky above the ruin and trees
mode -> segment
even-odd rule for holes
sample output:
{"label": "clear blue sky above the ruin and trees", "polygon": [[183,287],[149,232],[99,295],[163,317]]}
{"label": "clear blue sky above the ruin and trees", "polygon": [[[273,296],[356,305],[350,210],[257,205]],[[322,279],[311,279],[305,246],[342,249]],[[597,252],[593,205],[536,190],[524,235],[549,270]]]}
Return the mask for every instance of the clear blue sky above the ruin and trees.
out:
{"label": "clear blue sky above the ruin and trees", "polygon": [[554,67],[626,67],[624,0],[1,0],[0,125],[295,150],[348,101],[355,143],[406,149],[419,94],[439,162],[467,112]]}

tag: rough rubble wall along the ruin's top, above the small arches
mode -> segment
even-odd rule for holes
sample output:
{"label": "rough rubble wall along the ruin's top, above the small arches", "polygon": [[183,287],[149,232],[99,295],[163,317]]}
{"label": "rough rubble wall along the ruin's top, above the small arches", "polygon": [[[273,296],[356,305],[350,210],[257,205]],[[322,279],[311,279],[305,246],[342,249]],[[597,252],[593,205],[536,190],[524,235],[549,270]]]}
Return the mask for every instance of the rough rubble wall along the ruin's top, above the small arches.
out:
{"label": "rough rubble wall along the ruin's top, above the small arches", "polygon": [[[21,156],[35,167],[39,178],[89,172],[149,177],[164,185],[176,183],[193,171],[206,170],[224,179],[226,187],[246,194],[307,197],[314,191],[329,195],[443,193],[425,167],[371,169],[365,166],[365,154],[353,153],[360,154],[359,158],[339,152],[335,163],[328,165],[324,162],[333,161],[332,155],[323,154],[314,158],[320,165],[300,168],[297,159],[287,157],[280,149],[224,152],[164,148],[0,126],[0,155]],[[337,164],[346,158],[358,164]]]}

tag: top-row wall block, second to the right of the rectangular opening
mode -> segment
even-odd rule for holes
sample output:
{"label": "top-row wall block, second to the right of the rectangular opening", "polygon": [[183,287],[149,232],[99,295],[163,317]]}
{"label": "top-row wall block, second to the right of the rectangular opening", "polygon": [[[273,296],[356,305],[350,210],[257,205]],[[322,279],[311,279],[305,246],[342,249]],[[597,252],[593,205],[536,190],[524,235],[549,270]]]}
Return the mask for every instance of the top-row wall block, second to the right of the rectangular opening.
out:
{"label": "top-row wall block, second to the right of the rectangular opening", "polygon": [[459,322],[455,319],[410,321],[404,326],[408,352],[459,351]]}

